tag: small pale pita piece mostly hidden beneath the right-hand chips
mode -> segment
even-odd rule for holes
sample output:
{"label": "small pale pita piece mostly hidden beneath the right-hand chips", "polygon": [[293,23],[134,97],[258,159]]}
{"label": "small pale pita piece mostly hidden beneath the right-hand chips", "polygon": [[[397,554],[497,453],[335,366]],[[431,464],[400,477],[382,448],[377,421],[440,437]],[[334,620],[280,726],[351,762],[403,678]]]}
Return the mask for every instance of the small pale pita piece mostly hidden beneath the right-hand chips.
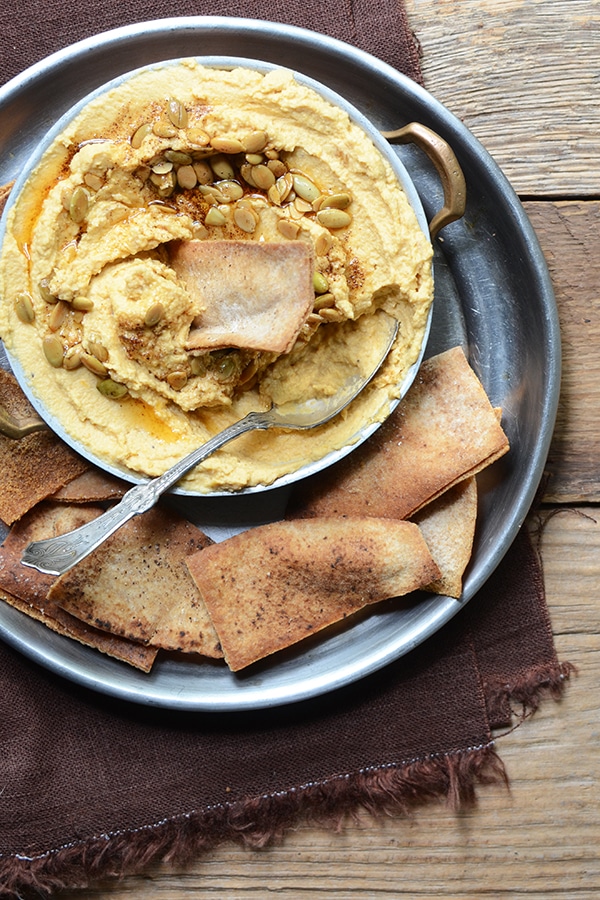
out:
{"label": "small pale pita piece mostly hidden beneath the right-hand chips", "polygon": [[440,570],[427,590],[460,597],[462,578],[473,552],[477,520],[477,481],[466,478],[424,506],[412,519]]}

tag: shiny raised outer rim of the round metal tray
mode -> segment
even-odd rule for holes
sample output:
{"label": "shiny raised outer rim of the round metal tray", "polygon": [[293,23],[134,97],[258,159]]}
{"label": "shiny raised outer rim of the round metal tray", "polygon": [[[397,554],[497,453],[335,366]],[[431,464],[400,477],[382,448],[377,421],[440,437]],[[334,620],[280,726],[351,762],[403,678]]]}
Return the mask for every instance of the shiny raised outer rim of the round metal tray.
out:
{"label": "shiny raised outer rim of the round metal tray", "polygon": [[[123,39],[132,35],[134,35],[135,37],[139,37],[140,28],[143,28],[145,34],[152,33],[154,35],[157,32],[164,31],[164,29],[194,30],[197,28],[224,28],[226,30],[235,30],[243,28],[249,31],[251,31],[252,29],[267,29],[271,34],[277,33],[279,36],[286,36],[288,38],[291,36],[295,40],[304,40],[308,41],[309,43],[316,42],[316,44],[321,48],[324,45],[327,45],[328,48],[333,48],[334,50],[343,53],[346,57],[349,57],[351,60],[355,60],[359,64],[362,63],[363,65],[373,65],[373,63],[375,63],[378,68],[378,72],[380,72],[384,77],[391,79],[396,84],[400,84],[416,102],[418,102],[420,105],[425,106],[427,112],[430,115],[434,115],[437,120],[443,123],[444,130],[446,132],[444,136],[449,140],[450,143],[452,143],[452,140],[448,137],[448,135],[454,134],[457,136],[457,139],[460,139],[461,143],[464,143],[465,146],[470,148],[476,154],[476,156],[479,157],[479,162],[483,165],[489,179],[496,186],[501,188],[503,199],[511,212],[516,227],[519,229],[519,231],[527,241],[530,253],[532,254],[533,262],[535,263],[534,268],[539,280],[541,292],[546,300],[544,312],[546,313],[547,317],[548,352],[545,357],[547,393],[544,398],[545,405],[543,409],[541,427],[535,441],[535,451],[532,454],[535,464],[532,464],[529,467],[529,477],[525,485],[525,490],[520,496],[520,502],[516,505],[515,509],[508,517],[507,525],[505,528],[505,532],[511,537],[511,540],[508,542],[505,540],[503,543],[496,545],[491,550],[488,555],[485,571],[480,571],[478,573],[478,576],[474,580],[472,580],[472,583],[470,585],[470,594],[468,597],[466,597],[465,600],[465,602],[467,602],[473,596],[473,594],[476,593],[477,590],[479,590],[485,580],[487,580],[487,578],[492,574],[494,569],[500,563],[501,559],[509,549],[512,540],[514,539],[514,537],[516,537],[516,534],[518,533],[524,522],[525,516],[534,499],[539,481],[541,480],[543,474],[543,466],[549,450],[550,441],[552,439],[552,431],[558,408],[561,370],[558,311],[556,308],[556,301],[554,298],[554,291],[550,280],[550,275],[545,263],[545,259],[543,257],[543,253],[541,251],[539,242],[537,240],[535,232],[533,231],[531,223],[529,222],[529,219],[527,218],[525,210],[523,209],[517,195],[515,194],[514,190],[510,186],[508,180],[506,179],[500,168],[489,156],[487,151],[485,151],[480,142],[471,134],[471,132],[466,128],[465,125],[463,125],[446,107],[442,106],[442,104],[440,104],[439,101],[437,101],[431,94],[429,94],[429,92],[425,88],[421,87],[416,82],[413,82],[401,72],[396,71],[388,64],[383,63],[376,57],[373,57],[365,51],[353,47],[352,45],[346,44],[345,42],[340,41],[336,38],[329,38],[325,35],[321,35],[308,29],[298,28],[297,26],[284,25],[281,23],[271,23],[258,19],[242,19],[233,17],[193,16],[156,19],[151,22],[134,23],[131,25],[122,26],[117,29],[104,31],[98,35],[86,38],[82,41],[70,45],[70,47],[63,48],[62,50],[51,54],[44,60],[39,61],[29,69],[25,70],[25,72],[15,76],[15,78],[7,82],[6,85],[0,87],[0,105],[3,102],[4,95],[7,90],[12,92],[16,89],[20,89],[26,86],[30,81],[35,80],[35,78],[43,74],[48,68],[49,64],[52,66],[58,65],[62,60],[69,59],[74,52],[85,52],[85,50],[88,48],[97,50],[98,43],[102,41]],[[157,691],[153,688],[153,679],[151,677],[148,678],[147,676],[144,676],[145,678],[148,678],[148,680],[146,681],[146,685],[153,689],[153,692],[150,694],[148,694],[147,692],[140,693],[133,688],[122,690],[114,684],[106,684],[101,679],[98,680],[98,678],[94,677],[94,675],[90,673],[76,672],[74,674],[73,668],[68,661],[68,655],[66,661],[64,656],[61,657],[61,654],[58,654],[58,657],[52,657],[52,654],[49,654],[46,657],[41,658],[40,654],[32,650],[26,640],[19,640],[18,638],[15,638],[14,635],[6,634],[6,629],[3,627],[2,622],[0,622],[0,632],[10,643],[13,644],[13,646],[21,650],[23,653],[25,653],[25,655],[37,660],[38,662],[41,662],[43,665],[46,665],[54,672],[63,675],[72,681],[76,681],[81,685],[101,691],[102,693],[118,696],[121,699],[131,700],[136,703],[175,708],[180,711],[189,710],[196,712],[236,712],[279,706],[287,703],[295,703],[313,696],[317,696],[319,694],[334,691],[339,687],[345,686],[351,681],[356,681],[358,680],[358,678],[362,678],[370,674],[371,672],[381,668],[387,663],[393,661],[393,659],[397,659],[399,656],[405,655],[415,646],[425,641],[433,633],[439,630],[439,628],[441,628],[447,621],[449,621],[449,619],[451,619],[454,614],[456,614],[459,609],[462,608],[462,605],[463,603],[455,602],[453,605],[451,605],[451,608],[448,608],[447,605],[440,604],[439,615],[437,617],[434,617],[429,622],[429,625],[426,629],[421,629],[416,635],[415,640],[413,642],[409,641],[403,647],[401,653],[398,653],[391,658],[381,658],[377,657],[377,654],[375,654],[369,660],[369,664],[363,667],[363,669],[358,674],[356,672],[340,672],[338,678],[326,679],[326,683],[319,682],[318,678],[312,679],[310,685],[305,686],[303,689],[299,689],[296,691],[290,691],[288,689],[283,690],[283,692],[273,691],[268,696],[256,697],[252,695],[246,695],[245,697],[237,699],[235,697],[229,698],[227,701],[224,701],[223,698],[220,698],[220,702],[217,706],[215,706],[215,704],[211,703],[210,701],[202,699],[199,700],[198,698],[180,698],[179,700],[175,701],[172,697],[161,696],[160,691]],[[14,613],[15,615],[20,615],[12,609],[10,610],[10,612]],[[37,625],[38,623],[35,624]],[[41,625],[39,627],[44,628],[44,626]],[[68,641],[69,639],[64,638],[63,640]],[[94,653],[94,651],[89,652]]]}

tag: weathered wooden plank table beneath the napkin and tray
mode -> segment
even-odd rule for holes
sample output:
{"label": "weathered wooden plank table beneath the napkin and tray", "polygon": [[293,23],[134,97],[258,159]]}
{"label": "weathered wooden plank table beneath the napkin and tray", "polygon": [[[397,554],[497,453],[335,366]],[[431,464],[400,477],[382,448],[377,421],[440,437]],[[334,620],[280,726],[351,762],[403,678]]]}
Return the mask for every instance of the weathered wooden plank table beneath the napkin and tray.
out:
{"label": "weathered wooden plank table beneath the napkin and tray", "polygon": [[559,657],[579,674],[498,738],[510,790],[482,788],[473,812],[303,825],[280,847],[62,900],[600,896],[600,0],[406,2],[427,88],[512,182],[554,281],[564,380],[542,553]]}

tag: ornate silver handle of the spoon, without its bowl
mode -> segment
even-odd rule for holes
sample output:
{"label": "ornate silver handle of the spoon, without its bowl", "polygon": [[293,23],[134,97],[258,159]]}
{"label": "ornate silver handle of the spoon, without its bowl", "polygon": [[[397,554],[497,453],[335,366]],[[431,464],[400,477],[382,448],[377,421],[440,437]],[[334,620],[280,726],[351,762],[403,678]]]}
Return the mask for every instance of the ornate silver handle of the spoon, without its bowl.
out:
{"label": "ornate silver handle of the spoon, without its bowl", "polygon": [[224,444],[247,431],[268,428],[272,424],[268,413],[248,413],[219,432],[201,447],[192,450],[175,463],[163,475],[144,484],[136,484],[123,496],[122,500],[101,516],[59,537],[29,544],[21,557],[25,566],[45,572],[47,575],[62,575],[76,563],[99,547],[107,537],[114,534],[125,522],[140,513],[147,512],[158,501],[161,494],[176,484],[186,472],[197,466]]}

